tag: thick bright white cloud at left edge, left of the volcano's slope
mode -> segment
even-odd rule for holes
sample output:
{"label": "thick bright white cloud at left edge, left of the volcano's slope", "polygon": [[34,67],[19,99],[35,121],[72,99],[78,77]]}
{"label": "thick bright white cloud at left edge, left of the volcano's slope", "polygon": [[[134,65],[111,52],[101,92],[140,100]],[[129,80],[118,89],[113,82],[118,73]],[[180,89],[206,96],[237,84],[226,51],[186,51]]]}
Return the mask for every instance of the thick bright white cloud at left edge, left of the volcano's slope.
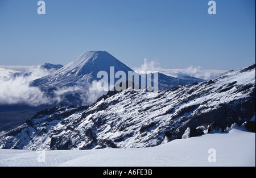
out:
{"label": "thick bright white cloud at left edge, left of the volcano's slope", "polygon": [[30,81],[46,76],[47,71],[36,67],[28,69],[26,74],[14,75],[16,72],[5,68],[0,70],[0,105],[39,106],[51,101],[39,88],[30,86]]}

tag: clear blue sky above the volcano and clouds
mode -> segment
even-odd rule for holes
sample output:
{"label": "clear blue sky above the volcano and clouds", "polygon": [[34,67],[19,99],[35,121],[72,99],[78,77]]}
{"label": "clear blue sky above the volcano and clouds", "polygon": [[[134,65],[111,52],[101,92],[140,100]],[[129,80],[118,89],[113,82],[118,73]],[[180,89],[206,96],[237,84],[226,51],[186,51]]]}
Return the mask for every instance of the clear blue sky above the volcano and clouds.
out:
{"label": "clear blue sky above the volcano and clouds", "polygon": [[108,51],[129,67],[236,69],[255,63],[255,1],[0,0],[0,65],[67,64]]}

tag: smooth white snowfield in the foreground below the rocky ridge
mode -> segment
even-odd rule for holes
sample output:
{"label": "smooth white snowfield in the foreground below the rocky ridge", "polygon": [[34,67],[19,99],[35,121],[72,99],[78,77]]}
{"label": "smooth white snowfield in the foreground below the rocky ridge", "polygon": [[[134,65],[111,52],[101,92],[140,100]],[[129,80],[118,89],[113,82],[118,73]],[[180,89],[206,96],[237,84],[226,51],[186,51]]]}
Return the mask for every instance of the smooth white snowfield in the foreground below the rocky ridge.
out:
{"label": "smooth white snowfield in the foreground below the rocky ridge", "polygon": [[[208,162],[210,148],[216,162]],[[0,166],[255,166],[255,133],[232,129],[151,148],[46,151],[46,162],[38,162],[40,154],[0,150]]]}

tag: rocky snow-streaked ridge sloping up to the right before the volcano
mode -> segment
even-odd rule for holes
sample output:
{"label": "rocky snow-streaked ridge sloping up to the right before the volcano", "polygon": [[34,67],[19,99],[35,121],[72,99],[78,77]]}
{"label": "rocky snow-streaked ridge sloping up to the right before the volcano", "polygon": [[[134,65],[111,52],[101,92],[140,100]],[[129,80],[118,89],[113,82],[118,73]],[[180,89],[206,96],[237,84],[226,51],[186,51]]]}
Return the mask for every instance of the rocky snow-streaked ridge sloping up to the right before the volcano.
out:
{"label": "rocky snow-streaked ridge sloping up to the right before the volcano", "polygon": [[91,106],[40,111],[0,136],[0,148],[87,150],[152,147],[225,130],[233,123],[255,131],[255,64],[214,80],[159,92],[125,90]]}

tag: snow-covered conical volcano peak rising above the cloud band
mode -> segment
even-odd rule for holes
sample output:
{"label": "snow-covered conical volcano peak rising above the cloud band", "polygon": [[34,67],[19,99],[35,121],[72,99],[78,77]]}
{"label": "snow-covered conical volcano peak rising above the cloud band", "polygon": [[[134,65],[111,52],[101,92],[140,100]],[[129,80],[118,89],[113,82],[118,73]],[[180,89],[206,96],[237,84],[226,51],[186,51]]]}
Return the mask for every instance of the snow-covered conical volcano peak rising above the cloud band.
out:
{"label": "snow-covered conical volcano peak rising above the cloud band", "polygon": [[110,72],[110,67],[117,71],[133,71],[121,61],[106,51],[89,51],[85,52],[71,63],[65,65],[58,71],[35,80],[34,86],[43,85],[72,85],[73,82],[78,84],[90,84],[93,80],[97,80],[97,73],[100,71]]}

